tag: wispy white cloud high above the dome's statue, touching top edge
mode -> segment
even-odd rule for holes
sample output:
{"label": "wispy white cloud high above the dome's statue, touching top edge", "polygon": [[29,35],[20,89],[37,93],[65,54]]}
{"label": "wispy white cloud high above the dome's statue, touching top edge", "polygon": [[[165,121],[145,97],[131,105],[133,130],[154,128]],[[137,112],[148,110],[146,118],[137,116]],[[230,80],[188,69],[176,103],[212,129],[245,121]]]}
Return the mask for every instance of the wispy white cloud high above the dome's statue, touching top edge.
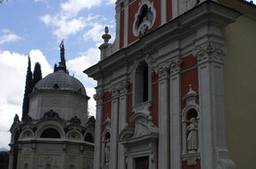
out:
{"label": "wispy white cloud high above the dome's statue, touching top edge", "polygon": [[[53,34],[56,35],[58,40],[62,40],[63,38],[67,39],[69,35],[79,33],[85,28],[94,26],[94,28],[99,30],[99,27],[103,27],[102,21],[106,20],[104,16],[88,14],[86,18],[79,17],[80,11],[90,9],[93,6],[97,6],[102,3],[114,4],[115,1],[68,0],[63,4],[60,4],[60,11],[55,15],[46,14],[41,16],[40,19],[45,25],[53,27]],[[94,37],[90,36],[90,38]]]}

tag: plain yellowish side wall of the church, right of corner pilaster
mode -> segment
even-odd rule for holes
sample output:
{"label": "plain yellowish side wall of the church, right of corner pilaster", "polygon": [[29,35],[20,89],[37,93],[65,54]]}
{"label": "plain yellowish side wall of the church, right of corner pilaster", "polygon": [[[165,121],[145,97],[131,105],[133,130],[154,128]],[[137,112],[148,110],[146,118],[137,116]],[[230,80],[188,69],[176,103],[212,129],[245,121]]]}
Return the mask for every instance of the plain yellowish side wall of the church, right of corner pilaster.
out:
{"label": "plain yellowish side wall of the church, right of corner pilaster", "polygon": [[[220,1],[244,14],[222,29],[224,47],[224,94],[227,145],[237,169],[256,166],[256,11],[238,1]],[[253,17],[253,18],[252,18]]]}

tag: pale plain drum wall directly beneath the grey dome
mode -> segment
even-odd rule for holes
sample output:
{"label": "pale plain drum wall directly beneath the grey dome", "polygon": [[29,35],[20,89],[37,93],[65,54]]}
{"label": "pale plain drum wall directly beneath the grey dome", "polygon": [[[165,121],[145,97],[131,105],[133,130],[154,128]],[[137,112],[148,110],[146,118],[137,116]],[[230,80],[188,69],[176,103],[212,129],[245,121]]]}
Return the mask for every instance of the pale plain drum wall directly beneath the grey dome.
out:
{"label": "pale plain drum wall directly beneath the grey dome", "polygon": [[87,99],[73,92],[38,92],[31,97],[29,115],[41,119],[43,114],[53,110],[64,121],[78,116],[81,122],[87,121]]}

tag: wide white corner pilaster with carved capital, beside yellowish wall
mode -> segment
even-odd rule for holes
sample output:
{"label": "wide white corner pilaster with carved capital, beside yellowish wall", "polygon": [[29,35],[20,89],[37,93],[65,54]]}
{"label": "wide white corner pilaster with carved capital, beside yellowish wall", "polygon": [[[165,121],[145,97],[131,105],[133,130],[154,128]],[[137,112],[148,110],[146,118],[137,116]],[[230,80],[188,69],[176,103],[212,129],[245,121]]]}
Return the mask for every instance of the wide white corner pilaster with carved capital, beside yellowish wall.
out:
{"label": "wide white corner pilaster with carved capital, beside yellowish wall", "polygon": [[199,69],[201,168],[235,169],[226,147],[221,43],[207,41],[198,45],[193,55]]}

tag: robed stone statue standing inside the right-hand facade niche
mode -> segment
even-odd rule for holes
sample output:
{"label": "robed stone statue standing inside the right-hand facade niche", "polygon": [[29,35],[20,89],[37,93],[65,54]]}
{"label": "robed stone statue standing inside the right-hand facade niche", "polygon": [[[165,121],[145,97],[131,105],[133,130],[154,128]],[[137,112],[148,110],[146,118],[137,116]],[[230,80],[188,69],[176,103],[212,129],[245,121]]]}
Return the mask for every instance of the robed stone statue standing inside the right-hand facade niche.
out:
{"label": "robed stone statue standing inside the right-hand facade niche", "polygon": [[187,127],[187,150],[189,153],[198,151],[198,123],[195,118],[192,117],[190,125]]}

